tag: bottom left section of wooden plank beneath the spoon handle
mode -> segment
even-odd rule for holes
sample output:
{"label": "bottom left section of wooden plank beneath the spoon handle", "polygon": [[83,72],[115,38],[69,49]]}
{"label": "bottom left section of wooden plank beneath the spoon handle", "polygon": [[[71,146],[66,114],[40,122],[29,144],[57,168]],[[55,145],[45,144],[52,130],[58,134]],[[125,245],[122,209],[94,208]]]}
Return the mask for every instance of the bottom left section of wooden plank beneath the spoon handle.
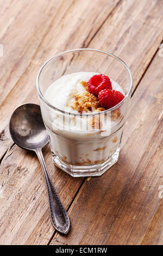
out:
{"label": "bottom left section of wooden plank beneath the spoon handle", "polygon": [[[49,146],[43,151],[48,172],[67,208],[82,183],[82,178],[54,168]],[[72,189],[73,188],[73,189]],[[0,189],[1,245],[47,244],[52,226],[46,185],[36,155],[14,145],[1,163]]]}

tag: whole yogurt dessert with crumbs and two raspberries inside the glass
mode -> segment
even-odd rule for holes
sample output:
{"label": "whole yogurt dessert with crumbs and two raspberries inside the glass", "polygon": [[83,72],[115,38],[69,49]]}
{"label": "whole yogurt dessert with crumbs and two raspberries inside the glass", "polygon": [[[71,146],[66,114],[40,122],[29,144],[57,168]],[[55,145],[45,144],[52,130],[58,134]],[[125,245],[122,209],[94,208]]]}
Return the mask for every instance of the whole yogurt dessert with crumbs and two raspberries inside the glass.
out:
{"label": "whole yogurt dessert with crumbs and two raspberries inside the glass", "polygon": [[53,82],[45,98],[54,106],[44,121],[60,168],[102,164],[118,154],[124,114],[122,108],[109,109],[124,98],[119,84],[103,74],[77,72]]}

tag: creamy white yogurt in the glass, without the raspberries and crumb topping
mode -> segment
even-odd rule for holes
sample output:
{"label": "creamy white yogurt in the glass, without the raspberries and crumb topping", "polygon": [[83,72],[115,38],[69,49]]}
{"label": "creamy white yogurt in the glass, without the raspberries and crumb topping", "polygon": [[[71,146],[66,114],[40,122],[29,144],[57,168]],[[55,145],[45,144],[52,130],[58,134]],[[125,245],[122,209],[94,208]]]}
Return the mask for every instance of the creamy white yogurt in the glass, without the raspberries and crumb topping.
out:
{"label": "creamy white yogurt in the glass, without the raspberries and crumb topping", "polygon": [[[45,93],[45,98],[54,107],[61,111],[72,113],[69,117],[61,112],[49,109],[48,113],[43,113],[43,120],[49,132],[52,152],[67,163],[74,165],[102,163],[108,160],[120,145],[122,135],[121,126],[124,123],[124,121],[120,122],[120,118],[117,120],[108,118],[110,122],[110,133],[105,135],[103,119],[101,119],[100,129],[90,129],[92,115],[88,117],[75,117],[73,115],[78,113],[70,105],[73,100],[73,93],[85,92],[86,89],[82,86],[81,81],[87,82],[90,77],[96,74],[95,72],[77,72],[62,76],[52,83]],[[110,81],[112,83],[112,89],[123,93],[122,88],[116,82],[111,79]],[[96,118],[98,117],[96,116],[95,120]],[[86,129],[81,127],[81,120],[82,125],[89,124]]]}

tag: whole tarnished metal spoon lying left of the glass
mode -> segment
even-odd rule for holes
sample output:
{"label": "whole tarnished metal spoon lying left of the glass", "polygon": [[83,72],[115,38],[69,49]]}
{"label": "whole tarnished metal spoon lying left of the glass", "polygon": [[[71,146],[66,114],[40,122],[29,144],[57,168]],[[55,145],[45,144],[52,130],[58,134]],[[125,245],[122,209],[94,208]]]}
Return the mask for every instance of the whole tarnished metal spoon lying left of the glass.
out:
{"label": "whole tarnished metal spoon lying left of the glass", "polygon": [[48,143],[48,135],[40,106],[27,103],[18,107],[11,115],[9,130],[11,138],[19,147],[34,150],[37,154],[46,181],[52,224],[59,233],[67,234],[70,220],[55,191],[42,155],[41,149]]}

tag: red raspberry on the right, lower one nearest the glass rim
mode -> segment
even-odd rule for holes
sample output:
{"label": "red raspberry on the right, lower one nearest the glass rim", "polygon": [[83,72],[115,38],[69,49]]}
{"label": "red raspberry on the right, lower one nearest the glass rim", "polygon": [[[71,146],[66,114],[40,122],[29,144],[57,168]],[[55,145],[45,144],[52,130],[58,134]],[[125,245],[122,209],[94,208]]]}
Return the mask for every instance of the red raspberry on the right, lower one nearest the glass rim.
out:
{"label": "red raspberry on the right, lower one nearest the glass rim", "polygon": [[124,95],[117,90],[101,90],[98,94],[98,100],[102,107],[109,109],[116,106],[124,99]]}

